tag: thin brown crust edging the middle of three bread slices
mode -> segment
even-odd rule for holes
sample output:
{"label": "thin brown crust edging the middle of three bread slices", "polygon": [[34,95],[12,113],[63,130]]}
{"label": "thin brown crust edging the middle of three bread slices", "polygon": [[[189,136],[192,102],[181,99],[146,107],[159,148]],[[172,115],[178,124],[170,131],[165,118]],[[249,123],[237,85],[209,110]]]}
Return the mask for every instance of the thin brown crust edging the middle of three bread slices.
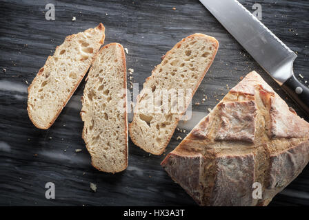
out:
{"label": "thin brown crust edging the middle of three bread slices", "polygon": [[[126,72],[126,54],[125,54],[125,52],[124,52],[124,50],[123,50],[123,46],[121,45],[121,44],[119,44],[119,43],[110,43],[110,44],[108,44],[108,45],[104,45],[103,47],[101,47],[101,49],[99,50],[99,52],[97,53],[97,55],[96,55],[96,57],[95,58],[97,58],[97,56],[99,56],[99,54],[101,54],[101,52],[104,50],[104,49],[106,49],[106,48],[108,48],[108,47],[110,47],[110,46],[112,46],[112,45],[116,45],[117,47],[120,47],[121,48],[121,61],[122,61],[122,67],[123,67],[123,69],[122,69],[122,72],[123,72],[123,78],[124,78],[124,80],[123,80],[123,89],[126,89],[127,90],[127,77],[126,77],[126,74],[127,74],[127,72]],[[87,76],[87,79],[88,79],[88,76]],[[127,97],[127,94],[126,94],[126,97]],[[83,99],[83,96],[81,97],[81,99]],[[95,164],[94,164],[94,162],[93,161],[91,161],[91,164],[92,164],[92,166],[94,167],[94,168],[96,168],[97,170],[100,170],[100,171],[102,171],[102,172],[105,172],[105,173],[119,173],[119,172],[121,172],[121,171],[123,171],[123,170],[125,170],[127,167],[128,167],[128,113],[127,113],[127,107],[128,107],[128,103],[127,103],[127,99],[125,98],[125,113],[124,113],[124,118],[125,118],[125,121],[126,121],[126,123],[125,123],[125,132],[124,132],[124,134],[123,134],[123,136],[125,137],[125,139],[126,139],[126,151],[125,151],[125,157],[126,157],[126,161],[125,161],[125,164],[124,164],[124,166],[122,167],[122,168],[119,168],[118,170],[113,170],[113,171],[110,171],[110,170],[104,170],[103,168],[100,168],[99,166],[96,166]],[[80,112],[80,115],[81,115],[81,113],[82,113],[82,111]],[[82,118],[82,115],[81,115],[81,118]],[[86,143],[86,139],[85,139],[85,137],[84,137],[84,135],[85,135],[85,126],[83,127],[83,131],[82,131],[82,133],[81,133],[81,138],[84,140],[84,142]],[[88,146],[88,144],[86,143],[86,148],[87,148],[87,150],[88,150],[88,152],[90,152],[90,148],[89,148],[89,146]]]}

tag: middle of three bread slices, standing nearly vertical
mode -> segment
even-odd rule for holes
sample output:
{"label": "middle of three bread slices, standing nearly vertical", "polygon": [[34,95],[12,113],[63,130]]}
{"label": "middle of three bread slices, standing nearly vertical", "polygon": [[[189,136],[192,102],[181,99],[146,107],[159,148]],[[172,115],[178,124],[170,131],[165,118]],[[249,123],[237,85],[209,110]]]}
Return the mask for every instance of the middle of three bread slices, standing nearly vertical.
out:
{"label": "middle of three bread slices, standing nearly vertical", "polygon": [[90,68],[83,91],[83,140],[98,170],[128,166],[126,57],[119,43],[104,46]]}

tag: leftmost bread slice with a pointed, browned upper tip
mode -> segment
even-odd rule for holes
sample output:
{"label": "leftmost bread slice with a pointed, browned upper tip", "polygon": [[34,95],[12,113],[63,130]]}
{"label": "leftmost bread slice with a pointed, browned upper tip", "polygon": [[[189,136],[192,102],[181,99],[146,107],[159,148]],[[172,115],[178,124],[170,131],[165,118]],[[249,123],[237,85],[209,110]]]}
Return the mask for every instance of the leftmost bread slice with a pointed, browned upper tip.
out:
{"label": "leftmost bread slice with a pointed, browned upper tip", "polygon": [[105,39],[104,26],[72,34],[48,56],[28,87],[28,115],[34,126],[48,129],[77,89]]}

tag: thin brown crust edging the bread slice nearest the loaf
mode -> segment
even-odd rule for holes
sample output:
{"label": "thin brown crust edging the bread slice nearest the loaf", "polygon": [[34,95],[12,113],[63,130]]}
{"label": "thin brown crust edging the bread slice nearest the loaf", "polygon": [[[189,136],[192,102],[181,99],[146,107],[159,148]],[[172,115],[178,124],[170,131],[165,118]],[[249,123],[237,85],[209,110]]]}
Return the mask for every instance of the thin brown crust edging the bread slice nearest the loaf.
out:
{"label": "thin brown crust edging the bread slice nearest the loaf", "polygon": [[[164,58],[166,58],[166,56],[167,56],[168,54],[172,53],[172,51],[175,50],[177,47],[180,47],[181,44],[182,44],[184,41],[186,41],[186,39],[192,39],[192,38],[195,38],[195,37],[197,37],[197,36],[203,36],[203,37],[204,37],[205,35],[204,35],[204,34],[196,33],[196,34],[191,34],[190,36],[187,36],[185,39],[182,39],[182,40],[179,41],[174,47],[172,47],[171,50],[169,50],[168,52],[166,52],[165,55],[161,56],[162,62],[164,61]],[[217,39],[215,39],[215,38],[212,37],[212,36],[208,36],[208,37],[209,37],[209,40],[212,41],[212,44],[215,45],[215,49],[216,49],[216,50],[215,50],[215,53],[214,53],[213,56],[212,56],[212,59],[211,59],[209,65],[206,67],[206,69],[204,70],[202,76],[199,78],[199,81],[198,81],[198,83],[197,83],[197,86],[196,86],[195,88],[193,88],[192,96],[191,96],[190,100],[192,100],[192,97],[194,96],[195,92],[197,91],[197,88],[198,88],[199,85],[201,84],[201,81],[203,80],[204,76],[205,76],[206,73],[208,72],[208,69],[209,69],[210,66],[212,65],[212,62],[214,61],[215,56],[216,56],[216,54],[217,54],[217,50],[218,50],[218,48],[219,48],[219,42],[217,41]],[[153,72],[155,72],[156,69],[157,69],[157,66],[155,67],[155,69],[152,70],[151,76],[149,76],[148,78],[146,78],[146,82],[147,82],[148,80],[150,80],[150,78],[153,76]],[[145,83],[146,83],[146,82],[145,82]],[[138,104],[139,104],[139,95],[137,96],[136,108],[137,108]],[[188,108],[188,106],[186,106],[186,108],[184,109],[183,113],[180,114],[179,118],[181,118],[181,116],[183,116],[183,114],[186,113],[186,109],[187,109],[187,108]],[[139,146],[139,148],[142,148],[144,151],[146,151],[146,152],[148,152],[148,153],[152,153],[153,155],[161,155],[161,154],[165,151],[166,146],[168,146],[168,143],[170,142],[170,139],[172,138],[172,135],[173,135],[174,132],[175,132],[175,129],[176,129],[177,124],[178,124],[178,122],[179,122],[179,118],[177,118],[177,120],[176,120],[174,126],[172,127],[172,132],[170,133],[170,135],[169,135],[168,139],[166,140],[166,142],[162,144],[163,148],[162,148],[162,150],[159,151],[159,152],[147,151],[146,148],[144,148],[143,146],[139,146],[139,144],[137,143],[137,140],[134,139],[134,135],[132,135],[132,133],[130,132],[130,130],[132,129],[132,126],[133,126],[132,122],[134,122],[134,120],[136,120],[136,119],[135,119],[135,113],[134,113],[134,115],[133,115],[132,122],[129,124],[130,138],[131,138],[132,142],[133,142],[136,146]]]}

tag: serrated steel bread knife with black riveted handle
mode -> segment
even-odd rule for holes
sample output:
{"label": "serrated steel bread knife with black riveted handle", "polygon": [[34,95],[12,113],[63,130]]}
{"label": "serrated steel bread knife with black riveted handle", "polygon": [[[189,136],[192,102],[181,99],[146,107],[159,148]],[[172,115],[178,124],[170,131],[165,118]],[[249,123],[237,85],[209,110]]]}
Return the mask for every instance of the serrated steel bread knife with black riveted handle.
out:
{"label": "serrated steel bread knife with black riveted handle", "polygon": [[297,55],[236,0],[199,0],[309,115],[309,89],[293,73]]}

